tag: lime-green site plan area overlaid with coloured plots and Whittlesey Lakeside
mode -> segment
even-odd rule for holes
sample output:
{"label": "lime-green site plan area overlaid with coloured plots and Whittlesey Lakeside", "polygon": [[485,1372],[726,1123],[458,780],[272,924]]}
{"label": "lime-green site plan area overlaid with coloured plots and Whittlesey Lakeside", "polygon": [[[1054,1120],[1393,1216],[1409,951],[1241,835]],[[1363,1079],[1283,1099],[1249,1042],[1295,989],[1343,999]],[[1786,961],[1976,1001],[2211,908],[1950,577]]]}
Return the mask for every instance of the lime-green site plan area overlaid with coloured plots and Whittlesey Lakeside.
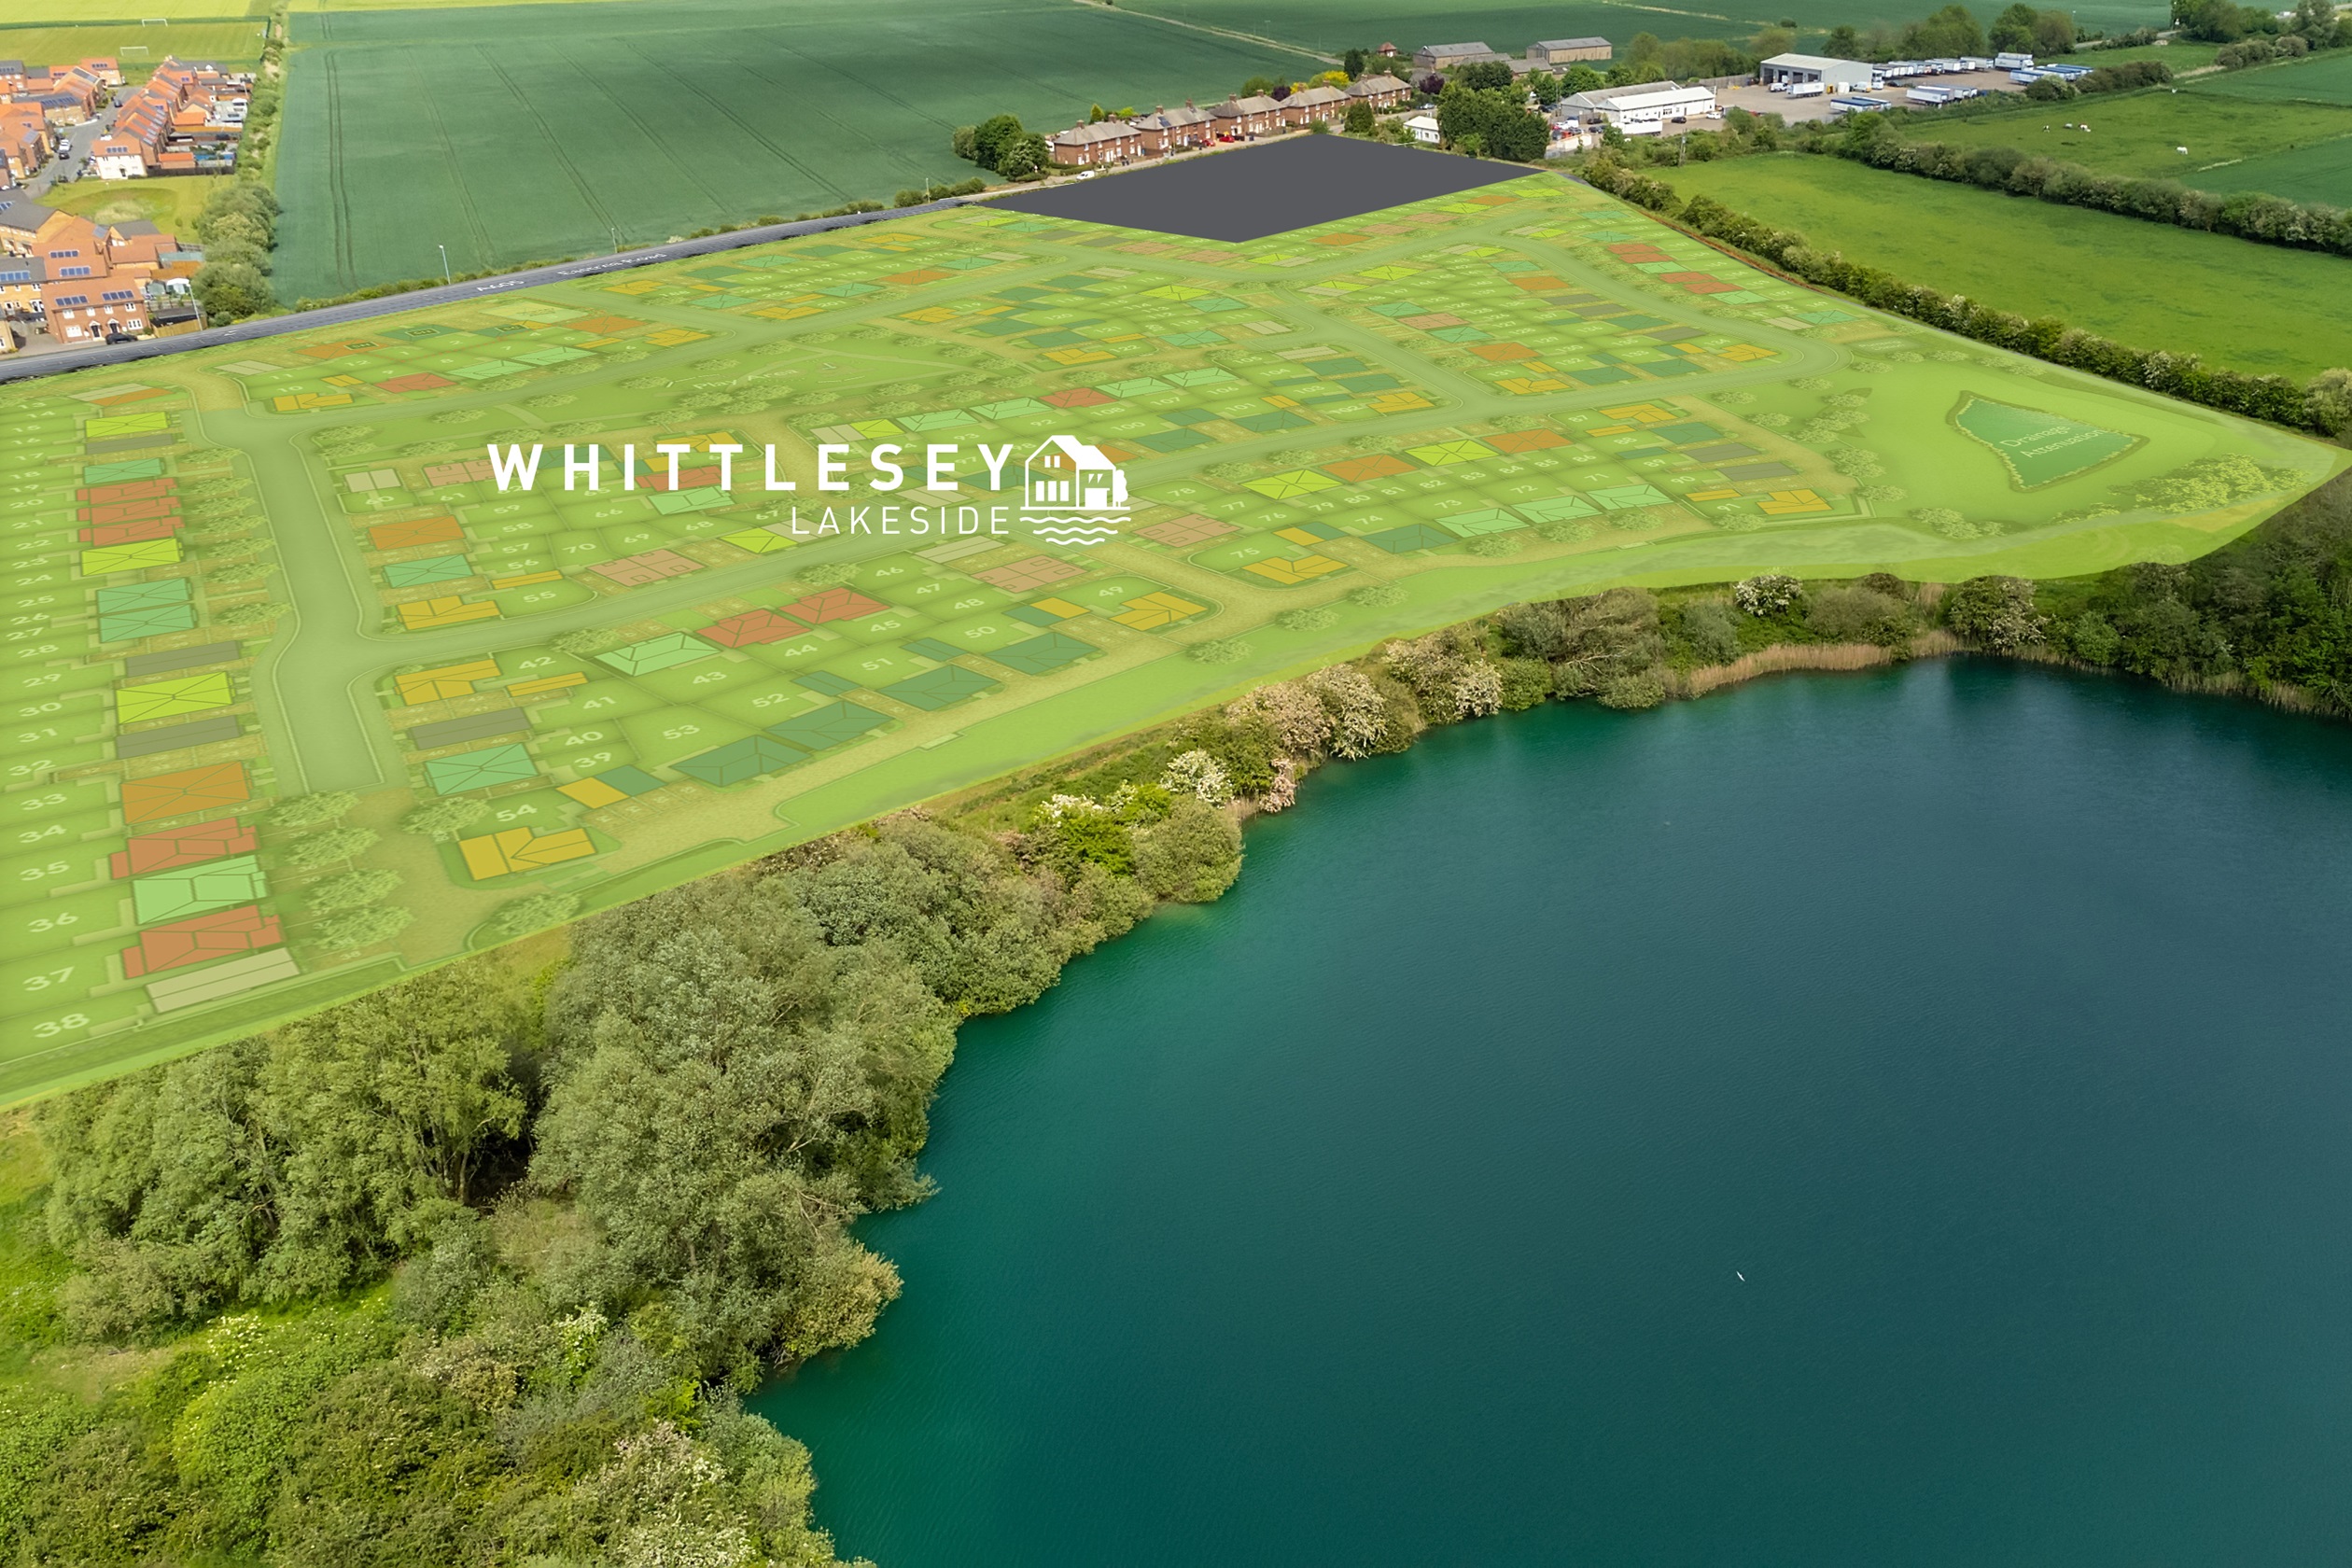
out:
{"label": "lime-green site plan area overlaid with coloured plots and Whittlesey Lakeside", "polygon": [[1538,174],[960,207],[0,388],[0,1100],[1510,599],[2185,559],[2345,461]]}

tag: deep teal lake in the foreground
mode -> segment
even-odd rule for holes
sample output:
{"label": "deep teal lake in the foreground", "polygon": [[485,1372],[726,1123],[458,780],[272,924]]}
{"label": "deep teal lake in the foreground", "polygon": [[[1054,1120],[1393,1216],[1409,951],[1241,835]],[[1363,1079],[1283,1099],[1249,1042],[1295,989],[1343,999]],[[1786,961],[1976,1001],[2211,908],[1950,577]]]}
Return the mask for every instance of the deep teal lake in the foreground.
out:
{"label": "deep teal lake in the foreground", "polygon": [[2352,726],[1465,724],[969,1025],[760,1408],[882,1568],[2347,1563],[2347,938]]}

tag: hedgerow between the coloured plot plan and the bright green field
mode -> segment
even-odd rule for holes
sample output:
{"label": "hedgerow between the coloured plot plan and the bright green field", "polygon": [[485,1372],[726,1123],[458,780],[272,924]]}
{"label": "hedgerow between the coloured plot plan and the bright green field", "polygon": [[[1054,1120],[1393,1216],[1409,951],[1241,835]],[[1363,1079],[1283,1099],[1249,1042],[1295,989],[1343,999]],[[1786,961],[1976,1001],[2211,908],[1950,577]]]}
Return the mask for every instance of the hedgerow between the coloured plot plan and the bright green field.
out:
{"label": "hedgerow between the coloured plot plan and the bright green field", "polygon": [[1700,235],[1762,256],[1804,282],[1837,289],[1865,306],[1907,315],[1915,322],[1926,322],[1929,327],[1955,331],[1978,343],[2084,369],[2110,381],[2126,381],[2185,402],[2244,414],[2246,418],[2267,418],[2281,425],[2319,430],[2321,435],[2352,430],[2352,407],[2345,400],[2352,376],[2340,369],[2324,371],[2310,386],[2296,386],[2284,376],[2246,376],[2244,371],[2211,367],[2197,355],[2129,348],[2079,327],[2067,327],[2058,317],[2023,317],[2013,310],[1997,310],[1964,294],[1940,294],[1924,284],[1903,282],[1893,273],[1846,261],[1837,252],[1818,252],[1799,233],[1759,223],[1712,197],[1684,202],[1672,186],[1606,158],[1585,165],[1585,179],[1599,190],[1675,216]]}

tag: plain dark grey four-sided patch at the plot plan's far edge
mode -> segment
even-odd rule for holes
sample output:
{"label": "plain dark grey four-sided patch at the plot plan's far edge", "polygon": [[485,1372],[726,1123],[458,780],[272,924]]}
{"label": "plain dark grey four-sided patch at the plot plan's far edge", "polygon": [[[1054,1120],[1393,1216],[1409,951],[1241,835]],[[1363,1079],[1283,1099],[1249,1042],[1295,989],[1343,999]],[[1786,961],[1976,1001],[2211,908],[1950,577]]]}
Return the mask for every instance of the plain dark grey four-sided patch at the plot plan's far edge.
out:
{"label": "plain dark grey four-sided patch at the plot plan's far edge", "polygon": [[997,207],[1192,240],[1263,240],[1432,195],[1526,179],[1512,165],[1352,136],[1291,136],[1014,195]]}

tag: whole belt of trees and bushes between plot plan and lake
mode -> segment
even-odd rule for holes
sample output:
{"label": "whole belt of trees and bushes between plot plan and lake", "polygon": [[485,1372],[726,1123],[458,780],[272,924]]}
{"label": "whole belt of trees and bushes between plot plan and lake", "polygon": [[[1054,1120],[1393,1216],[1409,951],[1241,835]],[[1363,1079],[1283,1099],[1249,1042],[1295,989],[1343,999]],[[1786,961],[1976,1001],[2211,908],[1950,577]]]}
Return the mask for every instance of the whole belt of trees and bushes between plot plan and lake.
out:
{"label": "whole belt of trees and bushes between plot plan and lake", "polygon": [[927,1197],[964,1018],[1319,766],[1952,651],[2352,717],[2352,475],[2185,567],[1515,604],[9,1112],[0,1559],[833,1563],[741,1399],[898,1295],[854,1222]]}

